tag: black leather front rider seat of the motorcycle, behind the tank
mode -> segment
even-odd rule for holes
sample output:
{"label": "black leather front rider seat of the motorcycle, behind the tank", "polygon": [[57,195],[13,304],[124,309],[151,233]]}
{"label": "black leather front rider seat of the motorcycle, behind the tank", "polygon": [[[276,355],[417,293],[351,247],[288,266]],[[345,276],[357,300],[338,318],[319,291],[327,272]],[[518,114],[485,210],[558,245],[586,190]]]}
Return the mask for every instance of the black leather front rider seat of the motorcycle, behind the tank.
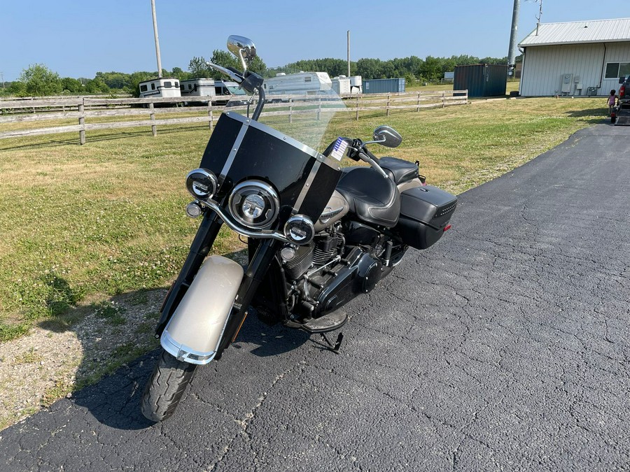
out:
{"label": "black leather front rider seat of the motorcycle, behind the tank", "polygon": [[400,192],[391,178],[371,167],[344,171],[337,192],[348,201],[350,211],[368,223],[393,227],[400,215]]}

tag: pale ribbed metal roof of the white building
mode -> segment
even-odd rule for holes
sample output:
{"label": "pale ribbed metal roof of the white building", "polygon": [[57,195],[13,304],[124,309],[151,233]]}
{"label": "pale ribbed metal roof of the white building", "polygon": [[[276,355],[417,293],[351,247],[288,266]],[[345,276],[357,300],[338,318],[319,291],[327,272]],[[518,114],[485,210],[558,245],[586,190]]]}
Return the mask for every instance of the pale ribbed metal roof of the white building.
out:
{"label": "pale ribbed metal roof of the white building", "polygon": [[630,18],[567,23],[541,23],[519,43],[521,47],[554,44],[613,43],[630,41]]}

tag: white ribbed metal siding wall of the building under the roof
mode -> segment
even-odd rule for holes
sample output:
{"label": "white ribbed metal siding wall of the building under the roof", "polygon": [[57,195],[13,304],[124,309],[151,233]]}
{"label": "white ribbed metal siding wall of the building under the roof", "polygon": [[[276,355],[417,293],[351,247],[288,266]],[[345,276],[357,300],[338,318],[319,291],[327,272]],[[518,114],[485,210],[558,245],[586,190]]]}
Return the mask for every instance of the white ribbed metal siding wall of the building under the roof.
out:
{"label": "white ribbed metal siding wall of the building under the roof", "polygon": [[[630,62],[630,43],[606,43],[606,48],[605,62]],[[526,48],[521,96],[554,96],[560,93],[564,73],[572,73],[573,78],[580,76],[582,95],[586,95],[588,87],[597,87],[600,83],[603,55],[602,43],[530,46]],[[617,80],[602,79],[597,94],[608,96],[610,90],[617,89],[618,85]],[[575,92],[575,82],[571,90]]]}

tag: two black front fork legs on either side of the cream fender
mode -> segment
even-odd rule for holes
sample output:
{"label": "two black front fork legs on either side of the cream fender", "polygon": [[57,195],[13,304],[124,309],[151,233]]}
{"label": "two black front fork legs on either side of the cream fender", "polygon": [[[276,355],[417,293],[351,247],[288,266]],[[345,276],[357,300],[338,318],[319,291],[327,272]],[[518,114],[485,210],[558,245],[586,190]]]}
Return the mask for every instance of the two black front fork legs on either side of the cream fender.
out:
{"label": "two black front fork legs on either side of the cream fender", "polygon": [[[164,304],[162,305],[162,310],[160,310],[160,321],[158,322],[158,327],[155,329],[156,338],[162,336],[162,332],[165,330],[179,302],[186,294],[186,290],[188,290],[190,284],[193,283],[193,278],[195,278],[197,271],[199,271],[204,262],[204,258],[209,254],[212,248],[218,231],[221,229],[221,224],[223,224],[223,221],[221,221],[221,218],[218,217],[214,211],[205,213],[204,219],[199,229],[197,229],[193,243],[190,245],[190,252],[188,253],[188,257],[186,257],[186,262],[184,262],[179,276],[169,290]],[[269,269],[278,250],[278,245],[278,241],[274,239],[265,239],[258,245],[258,248],[256,248],[243,280],[241,281],[228,322],[225,325],[225,331],[223,331],[221,343],[218,346],[216,359],[220,358],[223,350],[227,348],[230,343],[235,341],[239,329],[247,316],[249,304],[260,286],[262,279],[265,278],[267,269]]]}

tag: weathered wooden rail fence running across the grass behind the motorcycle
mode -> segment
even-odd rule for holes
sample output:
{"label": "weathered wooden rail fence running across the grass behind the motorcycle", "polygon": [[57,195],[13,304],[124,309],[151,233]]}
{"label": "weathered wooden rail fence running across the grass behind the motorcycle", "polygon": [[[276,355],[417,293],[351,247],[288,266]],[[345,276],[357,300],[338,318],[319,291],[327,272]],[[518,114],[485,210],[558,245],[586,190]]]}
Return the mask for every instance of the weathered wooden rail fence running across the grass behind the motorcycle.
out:
{"label": "weathered wooden rail fence running across the grass behind the motorcycle", "polygon": [[[288,121],[293,121],[296,115],[317,113],[317,119],[321,113],[339,111],[339,107],[331,106],[325,96],[308,96],[295,99],[293,96],[267,97],[279,103],[265,104],[265,112],[262,116],[286,115]],[[406,92],[397,94],[362,94],[347,95],[342,97],[344,105],[351,110],[356,120],[365,112],[385,114],[387,116],[394,110],[415,110],[422,108],[444,108],[446,106],[468,103],[468,92],[444,91],[444,92]],[[2,138],[18,138],[22,136],[39,136],[44,134],[57,134],[78,132],[79,142],[85,144],[87,131],[99,129],[116,129],[128,127],[151,127],[153,136],[158,134],[158,125],[206,123],[212,129],[223,111],[223,106],[212,105],[207,97],[177,97],[163,99],[132,99],[132,98],[92,98],[73,97],[62,99],[32,99],[32,100],[0,100],[0,125],[5,123],[29,123],[50,122],[59,120],[78,120],[77,124],[64,126],[50,126],[41,128],[25,127],[10,131],[0,131]],[[184,102],[201,102],[203,106],[172,106],[181,105]],[[160,105],[170,107],[160,107]],[[250,105],[253,110],[255,103]],[[135,108],[132,108],[135,107]],[[245,107],[235,108],[239,113],[245,113]],[[174,117],[186,113],[197,113],[197,116]],[[92,122],[94,118],[123,117],[127,120],[115,122]],[[133,120],[133,117],[141,117]],[[129,120],[131,118],[131,120]],[[159,119],[158,119],[159,118]],[[88,122],[86,122],[86,120]]]}

